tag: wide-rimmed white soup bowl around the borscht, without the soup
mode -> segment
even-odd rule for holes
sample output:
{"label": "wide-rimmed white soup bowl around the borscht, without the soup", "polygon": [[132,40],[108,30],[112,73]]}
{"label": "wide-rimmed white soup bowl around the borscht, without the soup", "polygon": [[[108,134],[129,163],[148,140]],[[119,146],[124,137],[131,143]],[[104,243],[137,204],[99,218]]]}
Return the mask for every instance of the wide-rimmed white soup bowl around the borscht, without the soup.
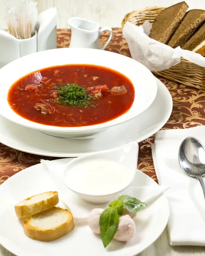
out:
{"label": "wide-rimmed white soup bowl around the borscht, without the soup", "polygon": [[[135,97],[131,108],[122,116],[111,121],[82,127],[57,127],[31,122],[17,115],[9,106],[7,94],[12,84],[21,77],[46,67],[65,64],[94,64],[108,67],[127,76],[134,85]],[[26,55],[0,69],[1,93],[0,114],[10,121],[24,127],[44,131],[60,137],[83,137],[106,128],[127,122],[145,111],[157,94],[157,83],[152,73],[142,64],[114,52],[98,49],[61,48]]]}

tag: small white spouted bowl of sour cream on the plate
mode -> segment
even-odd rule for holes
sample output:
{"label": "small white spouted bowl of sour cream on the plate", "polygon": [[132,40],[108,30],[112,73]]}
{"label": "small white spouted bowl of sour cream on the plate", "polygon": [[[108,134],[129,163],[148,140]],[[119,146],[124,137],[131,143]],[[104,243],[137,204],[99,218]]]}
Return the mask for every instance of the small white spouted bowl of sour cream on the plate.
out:
{"label": "small white spouted bowl of sour cream on the plate", "polygon": [[[108,203],[114,197],[116,197],[118,193],[126,189],[130,185],[130,183],[133,181],[136,174],[136,169],[137,169],[138,151],[139,151],[139,147],[137,142],[131,142],[119,148],[114,148],[107,151],[101,151],[97,153],[87,154],[82,157],[77,157],[76,159],[69,162],[65,167],[65,170],[63,171],[63,176],[62,176],[63,182],[69,189],[71,189],[78,196],[80,196],[80,198],[84,199],[88,203],[91,203],[91,204]],[[85,164],[89,163],[89,161],[91,162],[96,159],[99,159],[101,161],[102,160],[111,161],[111,163],[116,163],[117,165],[122,166],[123,170],[126,169],[126,175],[125,173],[123,173],[124,171],[121,173],[123,175],[122,183],[113,183],[112,188],[109,189],[108,188],[109,186],[107,186],[105,187],[105,190],[104,190],[103,182],[101,184],[98,183],[99,186],[96,187],[96,183],[93,180],[89,183],[89,192],[88,192],[88,188],[83,187],[82,184],[85,176],[89,177],[87,175],[90,175],[90,173],[88,173],[88,169],[86,168],[83,169],[83,165],[85,166]],[[85,171],[85,173],[83,173],[83,170]],[[109,174],[108,172],[106,172],[109,175],[108,178],[112,176],[111,174],[112,170],[113,170],[112,174],[116,174],[116,170],[111,169],[109,171]],[[99,172],[101,179],[103,179],[103,171],[105,175],[105,169],[96,168],[96,172]],[[104,176],[104,178],[105,177],[106,176]],[[97,177],[97,179],[99,178]],[[111,185],[112,179],[111,179],[111,182],[109,180],[108,183]],[[102,186],[100,187],[100,185]],[[99,192],[100,190],[101,192]]]}

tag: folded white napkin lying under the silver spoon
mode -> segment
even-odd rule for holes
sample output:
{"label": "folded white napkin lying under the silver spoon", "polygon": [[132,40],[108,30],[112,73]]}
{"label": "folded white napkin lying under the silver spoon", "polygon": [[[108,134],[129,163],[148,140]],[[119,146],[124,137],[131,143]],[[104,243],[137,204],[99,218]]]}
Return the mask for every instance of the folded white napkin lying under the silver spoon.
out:
{"label": "folded white napkin lying under the silver spoon", "polygon": [[196,178],[187,176],[178,162],[179,146],[193,136],[205,145],[205,126],[163,130],[155,134],[151,145],[159,184],[170,186],[166,192],[170,218],[168,232],[171,245],[205,246],[205,199]]}

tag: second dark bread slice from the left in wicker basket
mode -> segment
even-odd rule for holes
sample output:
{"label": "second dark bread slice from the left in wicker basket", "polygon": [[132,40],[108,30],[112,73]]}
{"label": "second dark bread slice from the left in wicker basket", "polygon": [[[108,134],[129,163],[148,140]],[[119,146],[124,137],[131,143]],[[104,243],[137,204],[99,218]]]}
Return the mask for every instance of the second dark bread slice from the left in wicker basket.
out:
{"label": "second dark bread slice from the left in wicker basket", "polygon": [[172,48],[184,45],[191,35],[194,34],[205,22],[205,11],[204,10],[190,10],[186,13],[184,19],[178,26],[177,30],[168,41],[168,45]]}

